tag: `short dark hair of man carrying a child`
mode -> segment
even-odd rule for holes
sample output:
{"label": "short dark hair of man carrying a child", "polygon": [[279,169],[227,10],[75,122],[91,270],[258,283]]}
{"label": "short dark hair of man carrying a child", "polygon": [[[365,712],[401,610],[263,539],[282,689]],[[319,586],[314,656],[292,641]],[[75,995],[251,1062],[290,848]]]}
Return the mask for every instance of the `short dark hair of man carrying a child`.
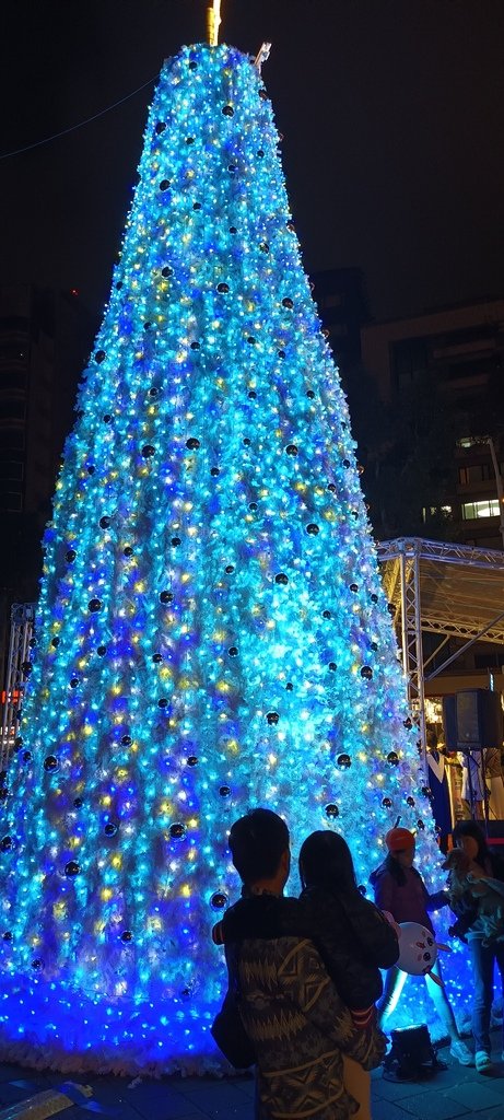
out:
{"label": "short dark hair of man carrying a child", "polygon": [[252,809],[235,821],[230,832],[233,864],[246,886],[272,879],[289,848],[289,829],[271,809]]}

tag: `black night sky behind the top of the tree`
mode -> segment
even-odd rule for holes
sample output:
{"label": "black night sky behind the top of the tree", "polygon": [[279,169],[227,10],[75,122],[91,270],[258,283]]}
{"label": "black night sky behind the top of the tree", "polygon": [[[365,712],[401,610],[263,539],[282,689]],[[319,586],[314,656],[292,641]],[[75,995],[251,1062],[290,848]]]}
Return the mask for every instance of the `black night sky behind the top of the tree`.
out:
{"label": "black night sky behind the top of the tree", "polygon": [[[307,271],[360,267],[377,319],[504,293],[504,0],[223,0],[256,54]],[[100,113],[205,39],[204,0],[10,0],[2,151]],[[0,280],[99,312],[155,83],[0,164]]]}

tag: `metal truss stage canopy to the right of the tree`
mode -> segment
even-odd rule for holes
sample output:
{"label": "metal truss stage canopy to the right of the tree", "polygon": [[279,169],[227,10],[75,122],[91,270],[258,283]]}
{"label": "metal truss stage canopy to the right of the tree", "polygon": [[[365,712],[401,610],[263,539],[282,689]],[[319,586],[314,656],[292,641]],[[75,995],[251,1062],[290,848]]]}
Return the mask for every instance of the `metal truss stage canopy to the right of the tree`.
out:
{"label": "metal truss stage canopy to the right of the tree", "polygon": [[[475,642],[504,644],[504,552],[401,536],[377,545],[385,595],[401,634],[408,699],[426,746],[424,683]],[[428,673],[422,633],[466,638]],[[445,643],[438,646],[439,650]]]}

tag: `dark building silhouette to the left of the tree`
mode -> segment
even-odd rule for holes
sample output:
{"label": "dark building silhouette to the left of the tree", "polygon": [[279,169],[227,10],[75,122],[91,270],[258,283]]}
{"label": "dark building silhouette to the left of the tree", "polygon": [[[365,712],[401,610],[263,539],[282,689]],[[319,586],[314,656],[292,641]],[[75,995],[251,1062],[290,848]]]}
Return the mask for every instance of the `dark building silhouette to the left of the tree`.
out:
{"label": "dark building silhouette to the left of the tree", "polygon": [[0,672],[10,605],[32,600],[40,541],[93,323],[76,291],[0,286]]}

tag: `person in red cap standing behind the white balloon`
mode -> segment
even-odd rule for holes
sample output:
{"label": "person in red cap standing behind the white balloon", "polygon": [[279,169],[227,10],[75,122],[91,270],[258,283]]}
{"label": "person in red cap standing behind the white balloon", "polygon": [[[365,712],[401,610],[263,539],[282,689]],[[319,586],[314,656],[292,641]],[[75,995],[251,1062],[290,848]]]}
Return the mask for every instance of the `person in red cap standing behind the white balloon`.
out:
{"label": "person in red cap standing behind the white balloon", "polygon": [[[420,872],[413,867],[416,846],[413,832],[402,828],[390,829],[385,836],[385,844],[388,856],[370,877],[376,906],[381,911],[389,911],[398,925],[401,922],[418,922],[433,933],[428,912],[446,906],[449,900],[447,893],[438,890],[430,895]],[[436,961],[432,972],[440,978],[439,960]],[[405,978],[407,973],[396,965],[389,969],[385,976],[383,996],[376,1005],[382,1028],[384,1020],[398,1005]],[[450,1036],[451,1056],[460,1065],[474,1065],[474,1056],[458,1034],[445,988],[428,974],[424,979],[439,1018]]]}

